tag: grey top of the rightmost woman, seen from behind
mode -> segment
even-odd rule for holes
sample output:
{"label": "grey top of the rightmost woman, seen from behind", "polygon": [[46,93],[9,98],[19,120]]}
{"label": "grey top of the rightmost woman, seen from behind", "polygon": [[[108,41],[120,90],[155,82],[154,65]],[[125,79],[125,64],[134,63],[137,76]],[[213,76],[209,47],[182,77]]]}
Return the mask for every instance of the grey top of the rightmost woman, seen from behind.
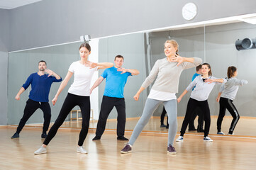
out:
{"label": "grey top of the rightmost woman, seen from behind", "polygon": [[220,92],[221,97],[223,98],[229,98],[230,100],[234,100],[235,96],[238,92],[238,86],[243,86],[244,84],[247,84],[248,81],[247,80],[240,80],[240,79],[236,79],[236,78],[230,78],[227,80],[226,84],[223,84],[221,86]]}

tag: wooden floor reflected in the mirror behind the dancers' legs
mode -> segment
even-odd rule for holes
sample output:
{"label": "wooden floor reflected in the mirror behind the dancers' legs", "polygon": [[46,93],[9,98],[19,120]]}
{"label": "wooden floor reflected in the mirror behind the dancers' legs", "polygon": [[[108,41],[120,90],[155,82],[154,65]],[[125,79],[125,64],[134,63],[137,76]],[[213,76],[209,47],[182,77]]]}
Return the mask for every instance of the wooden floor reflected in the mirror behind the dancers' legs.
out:
{"label": "wooden floor reflected in the mirror behind the dancers' legs", "polygon": [[[126,130],[133,130],[135,127],[136,123],[138,122],[139,118],[128,118],[126,120]],[[182,121],[184,118],[179,117],[178,118],[178,129],[177,132],[179,133],[181,127],[182,127]],[[231,116],[226,116],[223,120],[223,125],[222,125],[222,131],[224,133],[228,133],[230,123],[232,121]],[[216,135],[217,132],[217,117],[212,116],[211,117],[211,128],[210,128],[210,134],[211,135]],[[197,126],[197,119],[194,121],[195,126]],[[51,123],[52,125],[52,123]],[[165,125],[166,125],[166,118],[165,118]],[[240,118],[238,121],[238,124],[235,127],[235,135],[240,135],[240,136],[251,136],[251,137],[256,137],[256,130],[255,130],[255,125],[256,125],[256,118]],[[26,125],[26,126],[38,126],[42,127],[43,125]],[[96,128],[97,122],[94,120],[90,123],[90,128]],[[81,128],[81,120],[77,121],[73,120],[72,123],[65,122],[62,125],[63,128]],[[108,123],[106,124],[106,129],[108,130],[115,130],[116,129],[116,120],[108,120]],[[150,119],[150,122],[145,126],[143,129],[145,131],[154,131],[154,132],[167,132],[168,130],[165,128],[160,128],[160,118],[154,117]],[[199,133],[196,131],[187,131],[187,133],[192,133],[192,134],[198,134],[202,135],[203,133]]]}

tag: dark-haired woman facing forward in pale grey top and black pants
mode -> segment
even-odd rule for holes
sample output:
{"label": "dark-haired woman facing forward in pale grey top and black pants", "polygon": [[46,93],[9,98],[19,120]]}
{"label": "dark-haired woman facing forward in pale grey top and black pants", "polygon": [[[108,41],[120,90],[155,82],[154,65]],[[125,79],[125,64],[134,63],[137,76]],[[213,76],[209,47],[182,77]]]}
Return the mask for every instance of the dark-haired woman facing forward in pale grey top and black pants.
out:
{"label": "dark-haired woman facing forward in pale grey top and black pants", "polygon": [[208,96],[211,93],[215,84],[222,84],[226,82],[226,79],[217,79],[212,76],[211,66],[208,63],[202,64],[201,68],[202,75],[196,77],[194,81],[192,81],[187,89],[177,98],[178,103],[182,100],[182,97],[187,94],[188,91],[194,88],[191,92],[191,96],[189,98],[189,102],[187,103],[187,111],[185,118],[182,123],[182,129],[180,130],[180,136],[177,138],[177,142],[183,141],[184,133],[186,132],[187,125],[189,124],[189,120],[191,119],[191,115],[194,112],[196,107],[199,107],[201,111],[204,113],[204,141],[213,142],[210,137],[208,137],[208,132],[210,130],[211,125],[211,115],[210,108],[208,106]]}

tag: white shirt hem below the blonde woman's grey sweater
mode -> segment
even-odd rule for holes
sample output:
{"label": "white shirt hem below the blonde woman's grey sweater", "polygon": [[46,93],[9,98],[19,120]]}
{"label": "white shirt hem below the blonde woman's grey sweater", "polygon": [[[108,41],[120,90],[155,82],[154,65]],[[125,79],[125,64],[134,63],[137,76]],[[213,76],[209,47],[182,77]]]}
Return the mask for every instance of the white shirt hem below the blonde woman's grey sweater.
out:
{"label": "white shirt hem below the blonde woman's grey sweater", "polygon": [[157,101],[170,101],[173,99],[177,99],[175,93],[171,93],[168,91],[157,91],[154,89],[150,90],[148,98],[155,99]]}

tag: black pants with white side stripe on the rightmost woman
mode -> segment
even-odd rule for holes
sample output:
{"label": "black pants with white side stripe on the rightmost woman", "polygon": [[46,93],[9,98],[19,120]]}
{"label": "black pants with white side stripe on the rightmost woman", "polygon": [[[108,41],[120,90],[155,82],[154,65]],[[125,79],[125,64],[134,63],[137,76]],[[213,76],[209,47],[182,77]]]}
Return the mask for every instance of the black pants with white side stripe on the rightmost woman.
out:
{"label": "black pants with white side stripe on the rightmost woman", "polygon": [[240,118],[240,115],[238,114],[238,110],[235,108],[233,101],[228,98],[221,97],[219,103],[220,103],[220,113],[218,114],[217,130],[218,132],[221,132],[221,123],[225,116],[226,109],[228,109],[228,111],[233,117],[228,133],[232,134],[235,129],[235,125],[238,123],[238,120]]}

